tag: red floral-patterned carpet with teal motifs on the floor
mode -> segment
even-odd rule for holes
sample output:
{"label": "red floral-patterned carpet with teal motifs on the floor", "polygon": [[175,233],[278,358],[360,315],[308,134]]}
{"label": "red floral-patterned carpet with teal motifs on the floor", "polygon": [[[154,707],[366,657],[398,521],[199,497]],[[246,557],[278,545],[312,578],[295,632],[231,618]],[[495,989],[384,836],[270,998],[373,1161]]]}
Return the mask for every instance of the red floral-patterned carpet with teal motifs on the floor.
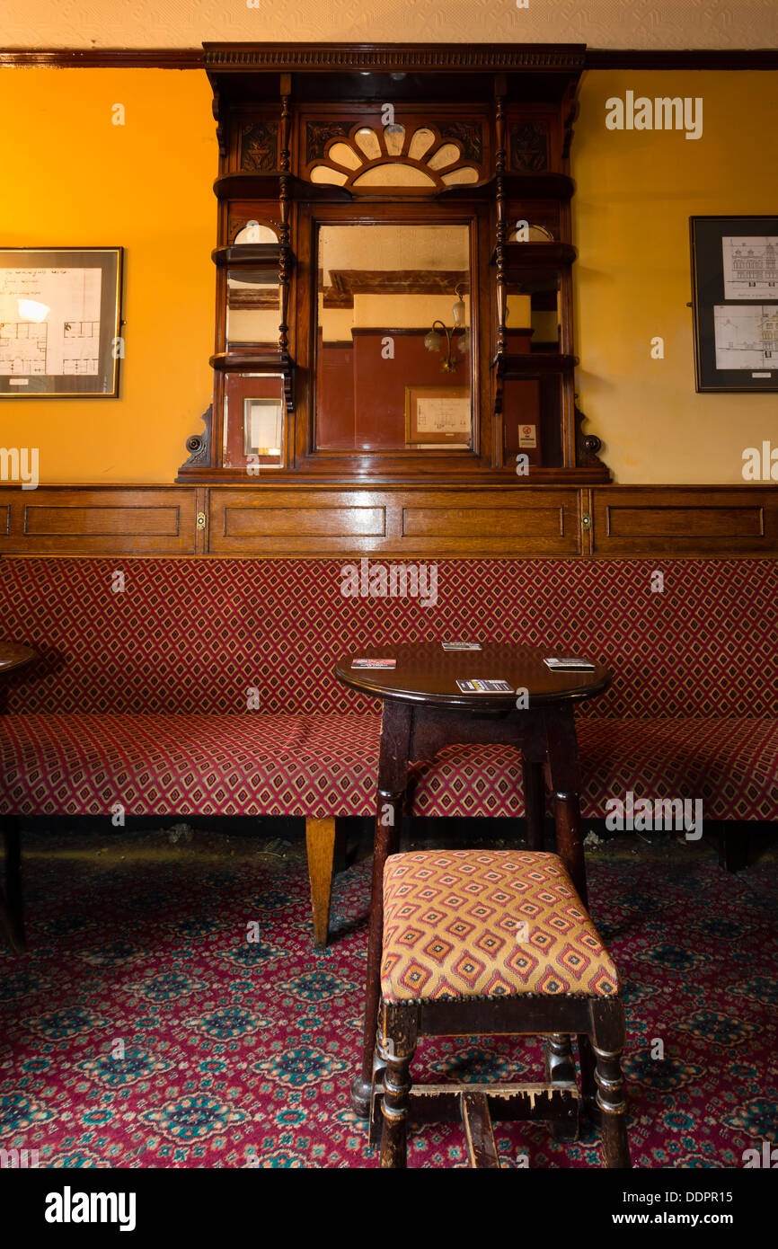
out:
{"label": "red floral-patterned carpet with teal motifs on the floor", "polygon": [[[187,836],[25,834],[30,953],[0,954],[0,1147],[41,1167],[375,1167],[347,1097],[370,864],[336,877],[317,954],[300,844]],[[733,877],[704,844],[633,847],[589,856],[627,985],[633,1163],[741,1168],[778,1142],[776,854]],[[537,1043],[502,1038],[422,1042],[415,1063],[418,1079],[541,1072]],[[496,1134],[505,1167],[599,1164],[591,1128],[576,1145],[542,1124]],[[461,1129],[415,1132],[408,1164],[465,1165]]]}

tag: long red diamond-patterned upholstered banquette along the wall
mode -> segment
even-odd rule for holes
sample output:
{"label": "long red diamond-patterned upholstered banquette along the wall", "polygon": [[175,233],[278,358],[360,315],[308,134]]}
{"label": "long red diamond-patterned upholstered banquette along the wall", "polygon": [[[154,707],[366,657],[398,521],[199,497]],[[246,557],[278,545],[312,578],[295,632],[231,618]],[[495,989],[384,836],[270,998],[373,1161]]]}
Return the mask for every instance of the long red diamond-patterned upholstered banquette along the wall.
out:
{"label": "long red diamond-patterned upholstered banquette along the wall", "polygon": [[[579,711],[584,816],[632,791],[777,818],[774,561],[441,560],[435,605],[345,597],[345,562],[1,560],[2,634],[41,658],[5,692],[0,812],[303,816],[327,841],[335,817],[373,812],[380,737],[338,654],[492,638],[611,668]],[[418,761],[412,811],[522,814],[517,753]]]}

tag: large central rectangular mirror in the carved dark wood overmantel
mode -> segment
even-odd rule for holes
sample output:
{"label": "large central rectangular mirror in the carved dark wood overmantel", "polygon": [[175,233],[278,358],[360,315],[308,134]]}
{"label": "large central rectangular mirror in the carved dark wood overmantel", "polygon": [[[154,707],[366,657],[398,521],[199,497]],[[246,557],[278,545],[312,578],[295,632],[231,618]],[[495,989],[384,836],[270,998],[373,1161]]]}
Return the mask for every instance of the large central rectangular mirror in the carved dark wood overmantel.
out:
{"label": "large central rectangular mirror in the carved dark wood overmantel", "polygon": [[318,230],[316,446],[468,450],[468,225]]}

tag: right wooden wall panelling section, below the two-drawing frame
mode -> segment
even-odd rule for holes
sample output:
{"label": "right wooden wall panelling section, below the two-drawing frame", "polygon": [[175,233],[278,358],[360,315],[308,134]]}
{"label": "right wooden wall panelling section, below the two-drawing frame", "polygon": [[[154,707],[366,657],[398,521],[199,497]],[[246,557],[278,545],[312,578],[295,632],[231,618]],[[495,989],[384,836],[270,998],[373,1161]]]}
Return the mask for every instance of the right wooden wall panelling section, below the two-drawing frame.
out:
{"label": "right wooden wall panelling section, below the two-drawing frame", "polygon": [[593,553],[776,556],[776,486],[604,486],[592,490]]}

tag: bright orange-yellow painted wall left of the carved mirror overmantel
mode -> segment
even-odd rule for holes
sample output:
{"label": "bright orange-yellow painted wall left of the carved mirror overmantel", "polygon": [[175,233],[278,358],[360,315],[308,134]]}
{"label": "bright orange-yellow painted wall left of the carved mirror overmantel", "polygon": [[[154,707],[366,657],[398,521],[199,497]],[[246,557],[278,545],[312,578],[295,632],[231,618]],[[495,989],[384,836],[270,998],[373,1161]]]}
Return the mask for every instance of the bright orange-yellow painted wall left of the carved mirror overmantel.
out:
{"label": "bright orange-yellow painted wall left of the carved mirror overmantel", "polygon": [[[111,124],[124,104],[125,125]],[[41,482],[170,482],[214,351],[216,130],[204,72],[0,70],[0,244],[122,246],[117,400],[0,400]]]}

